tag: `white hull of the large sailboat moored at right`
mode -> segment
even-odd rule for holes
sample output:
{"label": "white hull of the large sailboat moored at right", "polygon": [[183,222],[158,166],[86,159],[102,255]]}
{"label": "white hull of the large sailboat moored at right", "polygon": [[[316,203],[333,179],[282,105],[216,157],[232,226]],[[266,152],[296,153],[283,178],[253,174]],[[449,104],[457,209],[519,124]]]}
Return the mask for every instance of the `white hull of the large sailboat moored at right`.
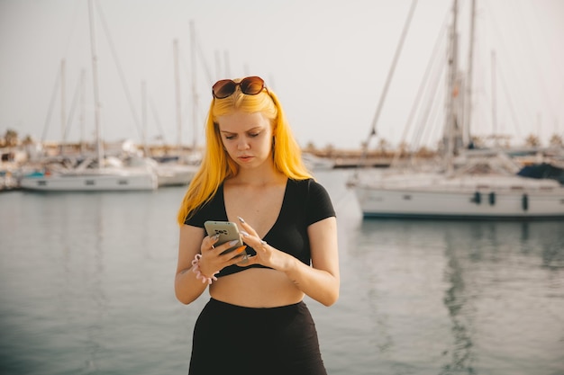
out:
{"label": "white hull of the large sailboat moored at right", "polygon": [[564,189],[484,183],[413,187],[356,184],[365,218],[557,219],[564,218]]}

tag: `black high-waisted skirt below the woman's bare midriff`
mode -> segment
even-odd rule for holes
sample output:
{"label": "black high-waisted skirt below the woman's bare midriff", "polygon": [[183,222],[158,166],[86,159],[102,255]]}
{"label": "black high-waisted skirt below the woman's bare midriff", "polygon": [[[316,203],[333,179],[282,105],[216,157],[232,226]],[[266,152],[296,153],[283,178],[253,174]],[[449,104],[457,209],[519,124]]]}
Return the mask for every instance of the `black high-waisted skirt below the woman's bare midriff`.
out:
{"label": "black high-waisted skirt below the woman's bare midriff", "polygon": [[326,375],[304,302],[243,308],[210,299],[194,327],[189,375]]}

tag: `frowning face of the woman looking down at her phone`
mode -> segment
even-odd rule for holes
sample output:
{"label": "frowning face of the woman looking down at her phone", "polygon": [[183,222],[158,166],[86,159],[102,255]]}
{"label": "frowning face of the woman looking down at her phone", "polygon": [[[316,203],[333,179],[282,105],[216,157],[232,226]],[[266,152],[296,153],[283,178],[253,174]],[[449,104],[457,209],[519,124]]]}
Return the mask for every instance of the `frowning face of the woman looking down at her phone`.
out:
{"label": "frowning face of the woman looking down at her phone", "polygon": [[223,147],[241,166],[253,168],[270,161],[272,126],[261,113],[233,112],[217,118]]}

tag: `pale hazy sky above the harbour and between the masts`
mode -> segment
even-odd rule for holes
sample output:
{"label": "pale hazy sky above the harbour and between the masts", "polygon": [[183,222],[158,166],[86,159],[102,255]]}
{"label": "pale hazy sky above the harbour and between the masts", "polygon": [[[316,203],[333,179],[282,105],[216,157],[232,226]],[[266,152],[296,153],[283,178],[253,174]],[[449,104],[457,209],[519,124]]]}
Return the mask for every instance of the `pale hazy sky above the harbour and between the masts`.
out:
{"label": "pale hazy sky above the harbour and between the masts", "polygon": [[[216,80],[262,76],[278,94],[302,146],[311,142],[316,147],[359,147],[368,136],[411,4],[411,0],[97,0],[103,137],[141,141],[141,82],[145,82],[148,138],[152,142],[162,135],[169,144],[177,143],[173,58],[177,39],[182,143],[192,144],[195,134],[198,144],[203,143],[205,113]],[[450,22],[451,4],[450,0],[421,0],[416,5],[378,119],[378,138],[391,144],[402,139],[430,58],[445,60],[444,41],[438,51],[432,51],[445,21]],[[469,4],[469,0],[459,1],[463,69],[468,66]],[[507,134],[515,146],[529,134],[545,143],[551,134],[563,136],[564,1],[478,0],[477,6],[476,111],[471,132]],[[196,49],[190,42],[191,21]],[[64,59],[65,117],[74,109],[68,140],[92,140],[90,48],[87,0],[0,0],[0,133],[15,129],[21,138],[28,134],[40,140],[63,138],[58,79]],[[82,69],[86,71],[84,129],[78,120],[81,106],[76,94]],[[444,85],[438,84],[435,91],[444,92]],[[423,98],[431,102],[430,95]],[[492,103],[496,103],[496,121]],[[435,99],[434,107],[424,127],[417,128],[423,121],[414,117],[406,142],[436,143],[443,100]],[[415,140],[414,134],[422,140]],[[378,138],[371,141],[372,146]]]}

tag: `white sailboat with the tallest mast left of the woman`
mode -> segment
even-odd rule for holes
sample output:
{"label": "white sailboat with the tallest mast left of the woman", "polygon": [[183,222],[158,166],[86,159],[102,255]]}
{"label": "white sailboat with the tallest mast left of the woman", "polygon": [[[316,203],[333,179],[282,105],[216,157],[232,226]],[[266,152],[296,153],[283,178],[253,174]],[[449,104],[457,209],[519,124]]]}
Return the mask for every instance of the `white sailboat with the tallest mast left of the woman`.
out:
{"label": "white sailboat with the tallest mast left of the woman", "polygon": [[[127,167],[106,165],[100,129],[100,101],[97,85],[96,25],[93,0],[88,0],[92,74],[94,79],[94,101],[96,122],[96,158],[86,159],[77,167],[57,171],[46,171],[23,176],[23,189],[50,192],[101,192],[101,191],[151,191],[158,188],[157,174],[150,166]],[[61,85],[62,87],[62,85]],[[62,102],[62,101],[61,101]],[[64,103],[61,103],[63,105]]]}

